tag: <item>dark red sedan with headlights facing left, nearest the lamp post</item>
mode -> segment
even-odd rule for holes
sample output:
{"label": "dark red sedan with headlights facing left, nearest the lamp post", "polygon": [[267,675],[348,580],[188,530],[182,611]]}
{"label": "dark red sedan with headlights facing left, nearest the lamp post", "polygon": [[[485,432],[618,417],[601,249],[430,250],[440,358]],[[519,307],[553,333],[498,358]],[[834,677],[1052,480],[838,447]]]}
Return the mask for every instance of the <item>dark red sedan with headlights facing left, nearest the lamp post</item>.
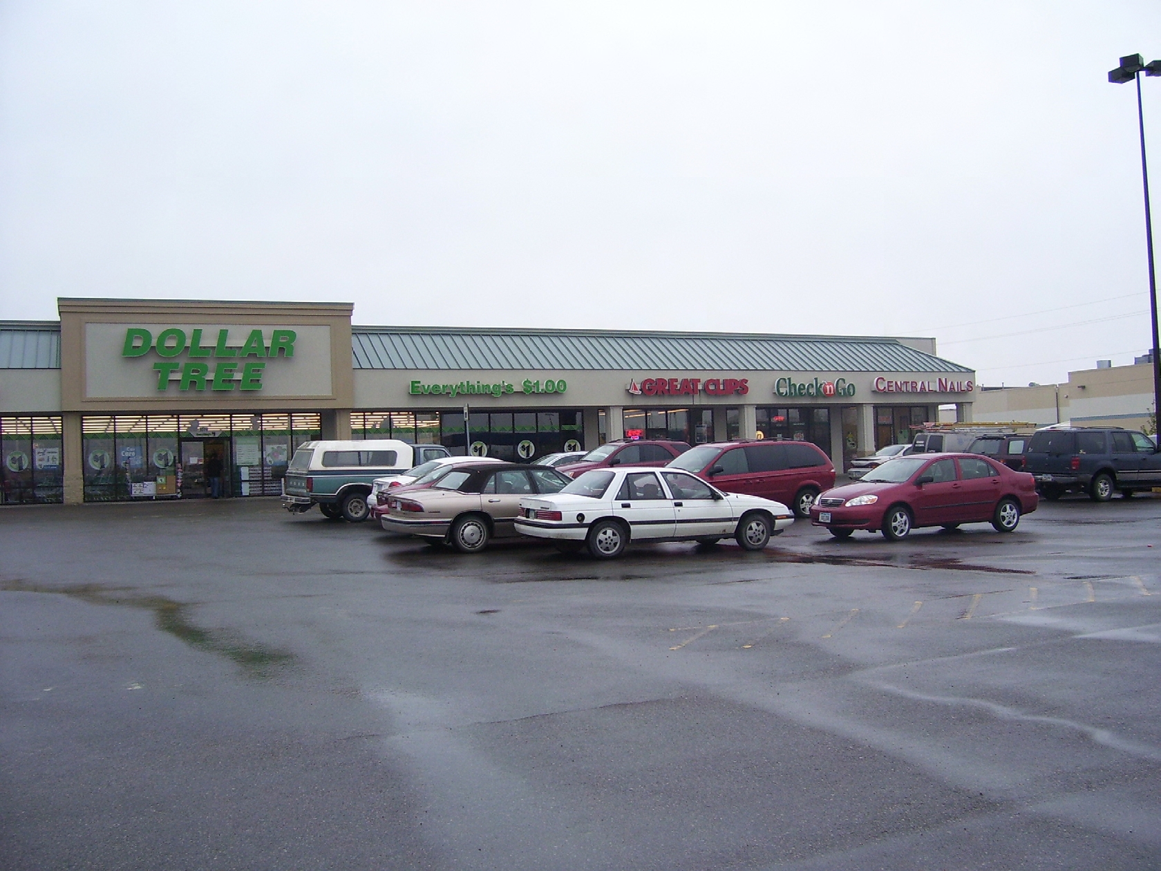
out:
{"label": "dark red sedan with headlights facing left, nearest the lamp post", "polygon": [[1038,502],[1036,481],[1025,472],[979,454],[915,454],[827,490],[810,509],[810,523],[838,539],[856,530],[881,530],[897,541],[918,526],[954,530],[971,523],[1011,532]]}

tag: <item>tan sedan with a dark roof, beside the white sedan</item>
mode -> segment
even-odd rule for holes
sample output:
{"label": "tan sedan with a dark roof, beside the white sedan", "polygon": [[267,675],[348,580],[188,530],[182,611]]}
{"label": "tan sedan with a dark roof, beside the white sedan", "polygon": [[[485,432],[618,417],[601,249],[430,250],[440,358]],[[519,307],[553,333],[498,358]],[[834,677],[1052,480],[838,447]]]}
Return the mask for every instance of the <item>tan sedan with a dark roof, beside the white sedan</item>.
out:
{"label": "tan sedan with a dark roof, beside the white sedan", "polygon": [[469,463],[431,487],[387,501],[380,525],[388,532],[419,535],[461,553],[483,550],[492,538],[514,538],[520,499],[558,492],[571,481],[543,466]]}

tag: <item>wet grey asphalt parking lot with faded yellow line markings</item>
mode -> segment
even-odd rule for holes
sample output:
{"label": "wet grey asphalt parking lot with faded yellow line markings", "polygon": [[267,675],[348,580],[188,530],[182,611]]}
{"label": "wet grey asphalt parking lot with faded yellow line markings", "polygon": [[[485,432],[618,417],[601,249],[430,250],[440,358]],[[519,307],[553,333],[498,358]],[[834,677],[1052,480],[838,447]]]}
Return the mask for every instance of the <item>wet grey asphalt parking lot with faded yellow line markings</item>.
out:
{"label": "wet grey asphalt parking lot with faded yellow line markings", "polygon": [[5,869],[1155,869],[1161,498],[460,556],[0,513]]}

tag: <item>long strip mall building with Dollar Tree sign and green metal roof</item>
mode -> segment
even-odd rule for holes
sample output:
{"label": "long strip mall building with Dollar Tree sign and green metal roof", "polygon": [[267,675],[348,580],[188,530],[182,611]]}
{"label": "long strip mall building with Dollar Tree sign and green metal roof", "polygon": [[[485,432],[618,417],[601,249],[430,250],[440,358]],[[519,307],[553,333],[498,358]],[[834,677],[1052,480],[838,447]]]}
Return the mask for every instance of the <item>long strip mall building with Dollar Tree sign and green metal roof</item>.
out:
{"label": "long strip mall building with Dollar Tree sign and green metal roof", "polygon": [[0,322],[6,504],[201,497],[215,458],[228,494],[276,495],[318,438],[510,460],[620,438],[796,439],[843,466],[910,440],[940,404],[969,420],[976,389],[935,339],[352,326],[334,303],[58,310]]}

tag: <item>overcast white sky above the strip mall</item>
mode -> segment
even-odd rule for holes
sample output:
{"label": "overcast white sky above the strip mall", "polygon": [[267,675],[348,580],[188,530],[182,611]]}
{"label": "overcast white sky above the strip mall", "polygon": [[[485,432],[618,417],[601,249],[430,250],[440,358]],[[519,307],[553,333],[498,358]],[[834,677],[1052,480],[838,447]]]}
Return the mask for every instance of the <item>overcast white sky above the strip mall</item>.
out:
{"label": "overcast white sky above the strip mall", "polygon": [[1156,0],[0,0],[0,318],[345,301],[1063,380],[1151,345],[1138,51]]}

